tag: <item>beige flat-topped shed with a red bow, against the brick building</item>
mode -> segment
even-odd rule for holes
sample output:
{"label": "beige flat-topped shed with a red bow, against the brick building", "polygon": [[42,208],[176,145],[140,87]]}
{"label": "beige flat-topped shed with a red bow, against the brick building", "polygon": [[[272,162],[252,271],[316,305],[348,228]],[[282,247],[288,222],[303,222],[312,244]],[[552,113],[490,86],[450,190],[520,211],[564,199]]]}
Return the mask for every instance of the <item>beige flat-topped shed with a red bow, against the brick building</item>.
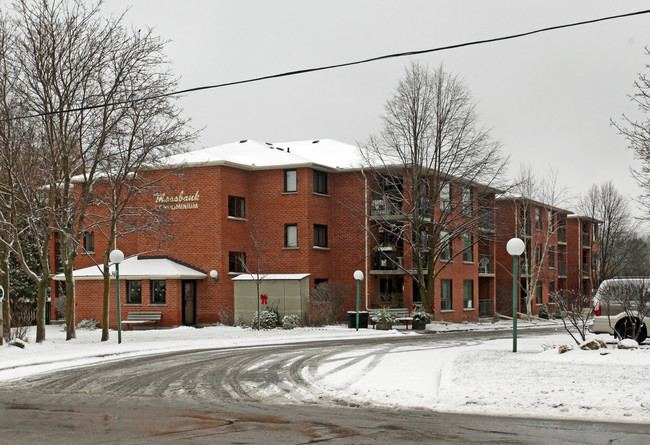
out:
{"label": "beige flat-topped shed with a red bow, against the brick building", "polygon": [[[260,309],[277,309],[280,319],[288,314],[296,314],[301,320],[309,317],[309,275],[305,274],[267,274],[262,275],[260,283]],[[257,311],[257,275],[243,274],[232,280],[235,283],[235,320],[251,324]],[[262,304],[266,302],[266,304]]]}

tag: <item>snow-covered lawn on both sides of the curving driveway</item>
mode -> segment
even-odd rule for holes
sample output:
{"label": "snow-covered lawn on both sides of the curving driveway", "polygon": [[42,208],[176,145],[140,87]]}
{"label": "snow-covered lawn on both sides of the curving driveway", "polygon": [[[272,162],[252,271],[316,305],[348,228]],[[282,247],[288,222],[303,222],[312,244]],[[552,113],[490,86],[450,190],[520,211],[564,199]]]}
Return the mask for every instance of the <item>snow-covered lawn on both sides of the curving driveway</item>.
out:
{"label": "snow-covered lawn on both sides of the curving driveway", "polygon": [[[549,326],[552,322],[536,323]],[[525,329],[528,324],[520,322]],[[557,333],[512,339],[476,341],[463,346],[391,345],[342,352],[304,377],[339,400],[360,405],[423,407],[439,411],[491,415],[650,421],[650,349],[572,350],[558,354],[553,346],[572,345],[561,326]],[[432,330],[510,329],[510,324],[431,324]],[[30,335],[33,337],[34,333]],[[226,326],[194,329],[111,332],[100,342],[99,331],[77,331],[65,341],[58,326],[48,326],[47,341],[25,349],[0,347],[0,380],[82,366],[118,358],[166,351],[309,342],[325,339],[418,335],[403,328],[392,331],[345,326],[257,332]],[[601,339],[613,342],[610,336]],[[431,346],[434,345],[434,346]],[[260,364],[262,366],[263,364]]]}

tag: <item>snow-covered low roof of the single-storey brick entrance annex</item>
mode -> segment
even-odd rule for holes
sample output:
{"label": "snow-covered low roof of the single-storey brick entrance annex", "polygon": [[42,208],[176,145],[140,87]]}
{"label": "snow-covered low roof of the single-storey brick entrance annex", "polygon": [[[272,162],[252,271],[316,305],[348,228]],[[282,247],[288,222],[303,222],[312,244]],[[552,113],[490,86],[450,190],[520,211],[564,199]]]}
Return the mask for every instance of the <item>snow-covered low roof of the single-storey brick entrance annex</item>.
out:
{"label": "snow-covered low roof of the single-storey brick entrance annex", "polygon": [[[111,273],[115,270],[113,264],[109,266]],[[75,280],[101,280],[104,266],[91,266],[75,270]],[[200,280],[208,275],[192,267],[185,266],[169,258],[162,257],[131,257],[120,264],[120,278],[130,280]],[[57,281],[65,280],[65,275],[60,273],[54,276]]]}

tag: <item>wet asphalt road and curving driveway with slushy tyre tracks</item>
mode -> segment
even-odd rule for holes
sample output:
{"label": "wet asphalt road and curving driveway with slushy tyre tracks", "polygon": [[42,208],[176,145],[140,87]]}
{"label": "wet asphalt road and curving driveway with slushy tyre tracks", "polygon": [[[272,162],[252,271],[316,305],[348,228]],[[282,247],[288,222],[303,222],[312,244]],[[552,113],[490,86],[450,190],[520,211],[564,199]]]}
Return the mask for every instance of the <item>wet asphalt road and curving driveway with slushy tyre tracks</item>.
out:
{"label": "wet asphalt road and curving driveway with slushy tyre tracks", "polygon": [[[540,331],[521,331],[520,336]],[[302,378],[346,348],[443,348],[509,332],[162,354],[0,385],[0,443],[650,443],[650,426],[357,406]]]}

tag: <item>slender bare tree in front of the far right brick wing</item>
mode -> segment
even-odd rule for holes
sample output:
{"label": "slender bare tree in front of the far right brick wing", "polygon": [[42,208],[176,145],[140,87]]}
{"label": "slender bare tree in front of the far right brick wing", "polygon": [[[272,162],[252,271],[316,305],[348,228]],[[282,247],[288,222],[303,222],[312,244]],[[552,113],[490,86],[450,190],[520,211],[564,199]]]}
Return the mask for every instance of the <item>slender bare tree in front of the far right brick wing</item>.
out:
{"label": "slender bare tree in front of the far right brick wing", "polygon": [[[558,184],[557,172],[550,170],[547,177],[540,181],[530,166],[522,166],[519,176],[515,179],[513,193],[523,198],[519,200],[519,205],[514,206],[517,212],[515,219],[519,221],[521,235],[524,239],[529,236],[531,239],[530,246],[521,255],[520,281],[526,295],[526,312],[530,318],[538,286],[543,286],[543,283],[550,279],[548,258],[550,255],[556,255],[552,237],[562,228],[557,215],[558,211],[561,211],[560,206],[567,200],[567,190]],[[544,219],[547,221],[546,227],[543,224]],[[534,236],[531,230],[533,226]]]}

